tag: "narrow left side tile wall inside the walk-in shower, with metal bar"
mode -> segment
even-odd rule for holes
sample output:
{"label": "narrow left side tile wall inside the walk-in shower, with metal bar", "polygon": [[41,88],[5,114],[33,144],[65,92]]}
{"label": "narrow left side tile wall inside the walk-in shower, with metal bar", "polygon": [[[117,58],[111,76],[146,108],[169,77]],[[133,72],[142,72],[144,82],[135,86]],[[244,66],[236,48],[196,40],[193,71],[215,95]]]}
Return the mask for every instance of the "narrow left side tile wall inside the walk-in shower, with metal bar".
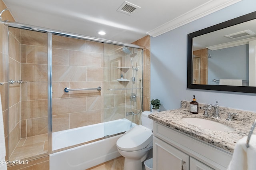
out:
{"label": "narrow left side tile wall inside the walk-in shower, with metal bar", "polygon": [[[20,74],[20,32],[9,29],[9,78],[21,80]],[[8,83],[6,83],[8,85]],[[20,87],[21,84],[9,85],[9,153],[11,154],[20,140]]]}

